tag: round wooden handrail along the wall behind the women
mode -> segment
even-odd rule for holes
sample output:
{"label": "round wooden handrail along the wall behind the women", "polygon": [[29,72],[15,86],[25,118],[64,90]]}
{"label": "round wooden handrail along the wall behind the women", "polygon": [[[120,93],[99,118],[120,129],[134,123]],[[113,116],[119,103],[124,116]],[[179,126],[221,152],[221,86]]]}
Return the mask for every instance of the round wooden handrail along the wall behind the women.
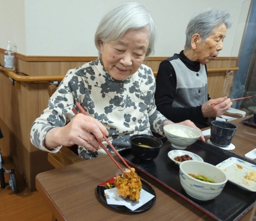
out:
{"label": "round wooden handrail along the wall behind the women", "polygon": [[[229,67],[227,68],[209,68],[207,69],[208,73],[217,73],[217,72],[227,72],[227,71],[237,71],[239,67]],[[6,70],[0,66],[0,72],[11,77],[15,81],[20,82],[42,82],[42,81],[62,81],[65,75],[39,75],[39,76],[22,76],[11,71]],[[157,71],[154,72],[154,76],[157,75]]]}

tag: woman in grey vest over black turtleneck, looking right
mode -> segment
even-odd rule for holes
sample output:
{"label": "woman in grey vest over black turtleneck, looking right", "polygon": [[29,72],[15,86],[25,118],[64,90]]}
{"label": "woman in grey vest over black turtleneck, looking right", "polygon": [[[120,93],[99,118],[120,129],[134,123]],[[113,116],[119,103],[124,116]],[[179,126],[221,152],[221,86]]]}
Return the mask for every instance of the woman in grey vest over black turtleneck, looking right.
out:
{"label": "woman in grey vest over black turtleneck, looking right", "polygon": [[231,25],[230,14],[224,10],[209,9],[195,14],[187,25],[184,50],[160,63],[155,103],[169,120],[189,119],[203,128],[231,107],[227,97],[210,99],[206,66],[222,50]]}

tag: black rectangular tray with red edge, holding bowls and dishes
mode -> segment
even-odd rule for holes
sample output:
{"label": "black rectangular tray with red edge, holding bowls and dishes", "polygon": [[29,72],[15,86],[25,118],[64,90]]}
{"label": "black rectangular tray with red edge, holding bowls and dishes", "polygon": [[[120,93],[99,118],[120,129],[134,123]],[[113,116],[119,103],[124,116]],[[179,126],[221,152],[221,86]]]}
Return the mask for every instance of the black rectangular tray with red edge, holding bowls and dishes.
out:
{"label": "black rectangular tray with red edge, holding bowls and dishes", "polygon": [[[132,167],[142,171],[216,220],[238,220],[252,208],[256,193],[243,190],[230,182],[226,183],[221,194],[213,200],[200,201],[190,197],[181,186],[178,165],[168,157],[168,152],[175,148],[166,138],[162,138],[162,141],[163,146],[159,155],[153,161],[137,160],[131,154],[130,148],[119,153]],[[229,157],[237,157],[256,165],[253,161],[200,141],[188,146],[186,150],[199,155],[204,162],[212,165],[217,165]]]}

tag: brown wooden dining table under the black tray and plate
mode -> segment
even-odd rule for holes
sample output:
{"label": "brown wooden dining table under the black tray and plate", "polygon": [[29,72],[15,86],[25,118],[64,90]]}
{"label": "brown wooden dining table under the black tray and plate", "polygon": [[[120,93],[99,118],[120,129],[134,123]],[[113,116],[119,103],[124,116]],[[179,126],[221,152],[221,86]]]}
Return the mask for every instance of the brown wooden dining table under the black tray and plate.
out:
{"label": "brown wooden dining table under the black tray and plate", "polygon": [[[236,146],[231,152],[242,157],[256,147],[255,140],[243,137],[244,130],[239,122],[232,143]],[[254,128],[245,128],[255,130]],[[246,130],[246,131],[247,131]],[[256,131],[256,130],[255,130]],[[116,158],[116,156],[115,156]],[[117,158],[116,158],[117,159]],[[254,160],[255,161],[255,160]],[[255,161],[256,162],[256,161]],[[115,175],[116,165],[108,156],[91,159],[59,169],[53,169],[36,176],[36,189],[42,194],[53,215],[58,221],[79,220],[213,220],[204,212],[169,191],[155,180],[139,173],[142,180],[149,183],[156,193],[153,207],[143,213],[120,213],[102,203],[96,187],[99,183]],[[241,220],[249,220],[247,213]]]}

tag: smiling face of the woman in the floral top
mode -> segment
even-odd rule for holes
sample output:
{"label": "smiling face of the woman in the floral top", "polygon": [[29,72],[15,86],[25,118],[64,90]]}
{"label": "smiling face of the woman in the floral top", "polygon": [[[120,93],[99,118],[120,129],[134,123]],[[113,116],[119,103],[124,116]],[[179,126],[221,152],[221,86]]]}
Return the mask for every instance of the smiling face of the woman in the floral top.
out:
{"label": "smiling face of the woman in the floral top", "polygon": [[117,42],[101,42],[101,62],[116,80],[134,74],[144,61],[149,45],[147,29],[128,30]]}

